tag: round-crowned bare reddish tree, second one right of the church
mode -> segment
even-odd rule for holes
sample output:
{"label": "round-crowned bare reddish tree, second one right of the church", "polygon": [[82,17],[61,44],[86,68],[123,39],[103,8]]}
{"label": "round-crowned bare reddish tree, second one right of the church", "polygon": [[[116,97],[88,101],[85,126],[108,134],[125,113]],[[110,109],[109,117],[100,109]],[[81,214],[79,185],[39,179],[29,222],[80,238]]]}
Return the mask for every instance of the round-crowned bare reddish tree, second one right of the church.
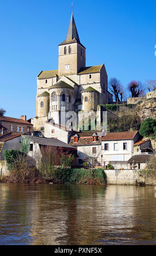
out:
{"label": "round-crowned bare reddish tree, second one right of the church", "polygon": [[131,81],[128,84],[128,90],[132,94],[132,97],[139,97],[144,94],[145,88],[141,82]]}

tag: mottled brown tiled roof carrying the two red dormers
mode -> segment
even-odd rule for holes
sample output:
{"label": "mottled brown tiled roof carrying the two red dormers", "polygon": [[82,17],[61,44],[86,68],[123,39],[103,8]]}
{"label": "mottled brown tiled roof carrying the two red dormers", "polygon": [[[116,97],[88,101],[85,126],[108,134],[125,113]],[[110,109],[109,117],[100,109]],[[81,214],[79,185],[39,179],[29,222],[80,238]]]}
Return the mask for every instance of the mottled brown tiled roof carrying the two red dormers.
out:
{"label": "mottled brown tiled roof carrying the two red dormers", "polygon": [[93,141],[92,136],[91,137],[79,137],[78,142],[74,142],[74,137],[71,137],[69,144],[72,146],[100,145],[101,139],[97,138],[97,141]]}

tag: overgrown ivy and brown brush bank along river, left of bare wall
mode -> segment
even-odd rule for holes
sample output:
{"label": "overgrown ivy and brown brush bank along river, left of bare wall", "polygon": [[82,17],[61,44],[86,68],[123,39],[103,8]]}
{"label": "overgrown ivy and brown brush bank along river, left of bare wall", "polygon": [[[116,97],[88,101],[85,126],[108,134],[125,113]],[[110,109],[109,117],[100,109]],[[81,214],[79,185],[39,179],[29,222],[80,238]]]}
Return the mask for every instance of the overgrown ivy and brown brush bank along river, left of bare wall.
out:
{"label": "overgrown ivy and brown brush bank along river, left of bare wall", "polygon": [[9,183],[49,183],[53,184],[106,184],[107,176],[104,169],[74,169],[74,168],[55,168],[51,173],[40,172],[36,168],[27,170],[10,170],[9,175],[1,179],[1,182]]}

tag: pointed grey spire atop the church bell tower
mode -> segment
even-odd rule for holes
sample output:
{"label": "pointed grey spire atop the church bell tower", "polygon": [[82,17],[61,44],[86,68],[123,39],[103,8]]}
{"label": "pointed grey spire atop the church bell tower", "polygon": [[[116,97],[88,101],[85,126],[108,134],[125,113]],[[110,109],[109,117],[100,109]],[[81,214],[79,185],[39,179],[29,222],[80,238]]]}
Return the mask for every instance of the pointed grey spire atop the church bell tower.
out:
{"label": "pointed grey spire atop the church bell tower", "polygon": [[74,21],[73,12],[72,12],[71,20],[70,20],[70,25],[68,26],[66,39],[63,42],[61,42],[60,45],[68,44],[71,41],[78,42],[79,44],[81,44],[80,40],[79,40],[77,28],[76,28],[76,23]]}

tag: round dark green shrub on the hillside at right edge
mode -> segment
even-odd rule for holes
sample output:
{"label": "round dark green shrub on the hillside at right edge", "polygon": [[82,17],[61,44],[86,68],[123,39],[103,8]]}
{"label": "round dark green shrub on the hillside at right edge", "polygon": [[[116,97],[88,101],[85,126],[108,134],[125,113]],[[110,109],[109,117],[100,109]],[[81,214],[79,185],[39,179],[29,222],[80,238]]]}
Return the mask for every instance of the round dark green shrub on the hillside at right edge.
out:
{"label": "round dark green shrub on the hillside at right edge", "polygon": [[147,118],[140,126],[139,133],[143,137],[147,137],[154,133],[154,127],[156,126],[156,121],[152,118]]}

